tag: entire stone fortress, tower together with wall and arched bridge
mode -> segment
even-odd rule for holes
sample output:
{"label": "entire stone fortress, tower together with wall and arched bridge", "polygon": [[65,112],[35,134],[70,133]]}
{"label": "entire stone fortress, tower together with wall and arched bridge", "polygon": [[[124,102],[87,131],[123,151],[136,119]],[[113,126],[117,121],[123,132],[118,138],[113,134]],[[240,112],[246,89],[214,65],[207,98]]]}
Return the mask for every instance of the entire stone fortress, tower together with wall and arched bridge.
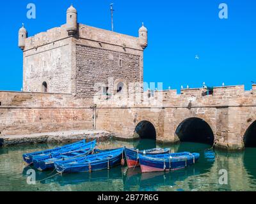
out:
{"label": "entire stone fortress, tower together with wall and arched bridge", "polygon": [[[173,143],[180,140],[180,125],[196,118],[210,127],[215,147],[239,150],[244,148],[246,131],[256,121],[256,85],[252,91],[244,91],[243,85],[214,87],[209,95],[205,88],[183,89],[181,94],[176,90],[156,91],[150,99],[163,94],[159,106],[145,105],[143,101],[108,105],[108,99],[122,98],[124,94],[114,90],[111,97],[97,102],[94,115],[95,84],[113,85],[116,89],[118,82],[143,82],[143,50],[147,47],[144,26],[139,36],[133,37],[78,24],[77,11],[70,6],[67,24],[61,27],[28,38],[23,26],[19,47],[24,55],[24,92],[0,91],[0,143],[8,135],[15,138],[84,131],[95,125],[116,137],[134,139],[138,138],[134,131],[142,121],[154,126],[158,142]],[[109,78],[114,84],[109,84]],[[140,85],[133,90],[135,93],[129,92],[129,97],[141,94],[142,89]],[[101,99],[101,94],[96,96]]]}

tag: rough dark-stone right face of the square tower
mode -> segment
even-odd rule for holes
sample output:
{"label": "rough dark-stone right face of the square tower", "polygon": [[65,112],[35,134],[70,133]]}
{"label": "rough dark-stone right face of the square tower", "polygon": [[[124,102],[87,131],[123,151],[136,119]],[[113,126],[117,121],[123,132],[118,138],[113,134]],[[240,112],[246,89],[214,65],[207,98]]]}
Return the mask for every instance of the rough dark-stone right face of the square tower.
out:
{"label": "rough dark-stone right face of the square tower", "polygon": [[95,87],[99,83],[104,87],[109,87],[110,92],[109,80],[111,80],[112,85],[116,84],[116,80],[124,82],[124,84],[143,82],[140,71],[140,55],[83,45],[77,45],[76,53],[76,91],[79,98],[93,98],[99,92],[99,89]]}

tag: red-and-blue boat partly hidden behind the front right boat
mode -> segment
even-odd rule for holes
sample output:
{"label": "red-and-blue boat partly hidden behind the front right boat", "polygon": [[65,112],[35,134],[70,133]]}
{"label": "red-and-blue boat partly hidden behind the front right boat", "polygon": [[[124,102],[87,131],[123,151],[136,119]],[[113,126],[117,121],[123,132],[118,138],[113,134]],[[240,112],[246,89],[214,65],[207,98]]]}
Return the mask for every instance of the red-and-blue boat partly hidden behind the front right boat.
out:
{"label": "red-and-blue boat partly hidden behind the front right boat", "polygon": [[140,166],[139,154],[145,155],[145,156],[152,156],[156,154],[170,153],[170,149],[161,149],[161,148],[140,151],[135,149],[128,149],[125,147],[124,151],[125,151],[125,157],[126,157],[128,168],[134,168],[134,167]]}

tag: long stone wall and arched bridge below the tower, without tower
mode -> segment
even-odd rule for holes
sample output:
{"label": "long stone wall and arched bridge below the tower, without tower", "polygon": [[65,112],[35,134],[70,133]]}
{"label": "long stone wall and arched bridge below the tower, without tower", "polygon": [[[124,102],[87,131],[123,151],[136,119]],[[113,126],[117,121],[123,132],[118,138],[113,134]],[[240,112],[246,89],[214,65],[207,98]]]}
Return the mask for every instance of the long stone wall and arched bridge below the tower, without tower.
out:
{"label": "long stone wall and arched bridge below the tower, without tower", "polygon": [[[216,147],[243,149],[244,134],[256,120],[256,94],[244,91],[241,86],[214,90],[215,94],[209,96],[200,95],[203,89],[184,89],[182,94],[157,91],[152,99],[163,94],[161,104],[145,105],[142,101],[118,105],[111,103],[111,99],[110,103],[100,101],[96,128],[131,139],[138,137],[134,130],[146,120],[156,128],[158,142],[179,142],[176,135],[179,125],[184,120],[199,118],[211,127]],[[72,94],[0,92],[0,102],[1,135],[93,128],[92,99]]]}

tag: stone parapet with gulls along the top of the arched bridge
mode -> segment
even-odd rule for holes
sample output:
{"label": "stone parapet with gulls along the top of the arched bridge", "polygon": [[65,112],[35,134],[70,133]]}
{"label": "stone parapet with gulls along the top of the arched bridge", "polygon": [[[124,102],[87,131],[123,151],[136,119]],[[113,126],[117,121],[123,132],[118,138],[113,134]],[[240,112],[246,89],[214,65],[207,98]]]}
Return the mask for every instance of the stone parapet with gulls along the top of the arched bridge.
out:
{"label": "stone parapet with gulls along the top of the arched bridge", "polygon": [[[212,91],[213,90],[213,91]],[[228,106],[232,104],[248,105],[255,97],[256,85],[252,91],[245,91],[244,85],[213,87],[209,93],[206,88],[181,89],[180,94],[175,89],[163,91],[123,92],[95,96],[98,105],[105,106]],[[254,100],[254,99],[253,99]]]}

